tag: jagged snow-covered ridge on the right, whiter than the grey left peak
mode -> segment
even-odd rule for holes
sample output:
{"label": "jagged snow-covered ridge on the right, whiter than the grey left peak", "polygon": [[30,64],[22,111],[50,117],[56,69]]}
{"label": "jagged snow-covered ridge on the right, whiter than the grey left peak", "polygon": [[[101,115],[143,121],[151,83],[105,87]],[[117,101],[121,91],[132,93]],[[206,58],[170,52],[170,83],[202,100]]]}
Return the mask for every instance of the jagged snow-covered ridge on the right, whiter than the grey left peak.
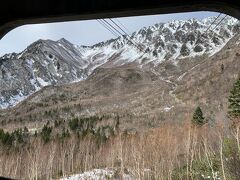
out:
{"label": "jagged snow-covered ridge on the right, whiter than the grey left peak", "polygon": [[[216,21],[208,31],[208,27],[216,17],[201,21],[197,19],[178,20],[158,23],[144,27],[130,35],[133,46],[127,38],[98,43],[89,47],[84,53],[86,59],[112,61],[114,65],[129,62],[159,64],[165,60],[176,60],[203,54],[213,55],[219,51],[239,29],[239,21],[232,17],[225,18],[222,23]],[[141,51],[140,51],[140,50]],[[100,56],[101,58],[96,58]],[[144,60],[144,61],[143,61]]]}

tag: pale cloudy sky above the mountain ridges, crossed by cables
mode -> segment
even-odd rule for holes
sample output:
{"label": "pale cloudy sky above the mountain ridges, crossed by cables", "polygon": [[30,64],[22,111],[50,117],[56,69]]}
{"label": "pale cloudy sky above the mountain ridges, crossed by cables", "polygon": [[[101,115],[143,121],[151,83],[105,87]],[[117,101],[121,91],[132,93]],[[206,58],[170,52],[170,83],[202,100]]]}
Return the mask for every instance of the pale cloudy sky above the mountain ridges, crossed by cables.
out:
{"label": "pale cloudy sky above the mountain ridges, crossed by cables", "polygon": [[[165,15],[135,16],[118,18],[118,20],[126,26],[129,31],[134,32],[144,26],[151,26],[155,23],[190,18],[203,19],[209,16],[216,16],[218,14],[219,13],[216,12],[201,11]],[[0,40],[0,56],[6,53],[21,52],[28,45],[38,39],[58,40],[65,38],[73,44],[93,45],[112,37],[114,36],[102,27],[96,20],[24,25],[10,31]]]}

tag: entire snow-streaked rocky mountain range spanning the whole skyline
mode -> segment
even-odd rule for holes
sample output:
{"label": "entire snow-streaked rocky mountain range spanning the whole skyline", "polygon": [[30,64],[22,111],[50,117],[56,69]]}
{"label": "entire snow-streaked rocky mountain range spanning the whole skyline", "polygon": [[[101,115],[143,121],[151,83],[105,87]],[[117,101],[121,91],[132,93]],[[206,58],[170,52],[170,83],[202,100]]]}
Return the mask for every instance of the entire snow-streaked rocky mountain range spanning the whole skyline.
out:
{"label": "entire snow-streaked rocky mountain range spanning the whole skyline", "polygon": [[0,108],[14,106],[44,86],[84,80],[100,66],[133,62],[140,67],[158,66],[166,60],[177,64],[183,58],[211,56],[239,31],[239,21],[231,17],[206,31],[214,19],[144,27],[129,35],[134,45],[122,36],[93,46],[77,46],[65,39],[38,40],[19,54],[0,58]]}

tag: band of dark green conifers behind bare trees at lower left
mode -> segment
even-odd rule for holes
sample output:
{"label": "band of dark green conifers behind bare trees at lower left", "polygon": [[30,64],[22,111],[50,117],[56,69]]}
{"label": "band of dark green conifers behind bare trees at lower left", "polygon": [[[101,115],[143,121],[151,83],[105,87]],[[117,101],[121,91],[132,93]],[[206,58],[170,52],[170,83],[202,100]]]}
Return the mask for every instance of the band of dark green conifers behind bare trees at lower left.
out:
{"label": "band of dark green conifers behind bare trees at lower left", "polygon": [[[48,121],[40,130],[36,130],[34,133],[30,133],[28,128],[16,129],[13,132],[5,132],[0,129],[0,141],[2,145],[12,146],[14,144],[26,143],[30,138],[40,137],[46,144],[52,139],[64,140],[73,135],[78,137],[85,137],[88,134],[92,134],[96,137],[98,143],[106,142],[106,140],[113,136],[119,126],[119,117],[113,117],[112,123],[102,124],[103,120],[112,118],[111,116],[90,116],[82,118],[73,118],[67,121],[55,120],[54,124],[50,124]],[[67,123],[66,123],[67,122]]]}

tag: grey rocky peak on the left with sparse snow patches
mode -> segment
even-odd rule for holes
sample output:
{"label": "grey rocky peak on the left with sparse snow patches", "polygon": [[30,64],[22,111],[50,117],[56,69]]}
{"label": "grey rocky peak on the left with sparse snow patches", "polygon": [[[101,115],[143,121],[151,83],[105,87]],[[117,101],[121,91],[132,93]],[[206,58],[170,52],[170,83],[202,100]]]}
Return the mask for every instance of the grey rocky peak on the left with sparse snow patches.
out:
{"label": "grey rocky peak on the left with sparse snow patches", "polygon": [[0,59],[0,107],[12,106],[47,85],[69,83],[86,77],[77,48],[66,40],[39,40],[20,54]]}

